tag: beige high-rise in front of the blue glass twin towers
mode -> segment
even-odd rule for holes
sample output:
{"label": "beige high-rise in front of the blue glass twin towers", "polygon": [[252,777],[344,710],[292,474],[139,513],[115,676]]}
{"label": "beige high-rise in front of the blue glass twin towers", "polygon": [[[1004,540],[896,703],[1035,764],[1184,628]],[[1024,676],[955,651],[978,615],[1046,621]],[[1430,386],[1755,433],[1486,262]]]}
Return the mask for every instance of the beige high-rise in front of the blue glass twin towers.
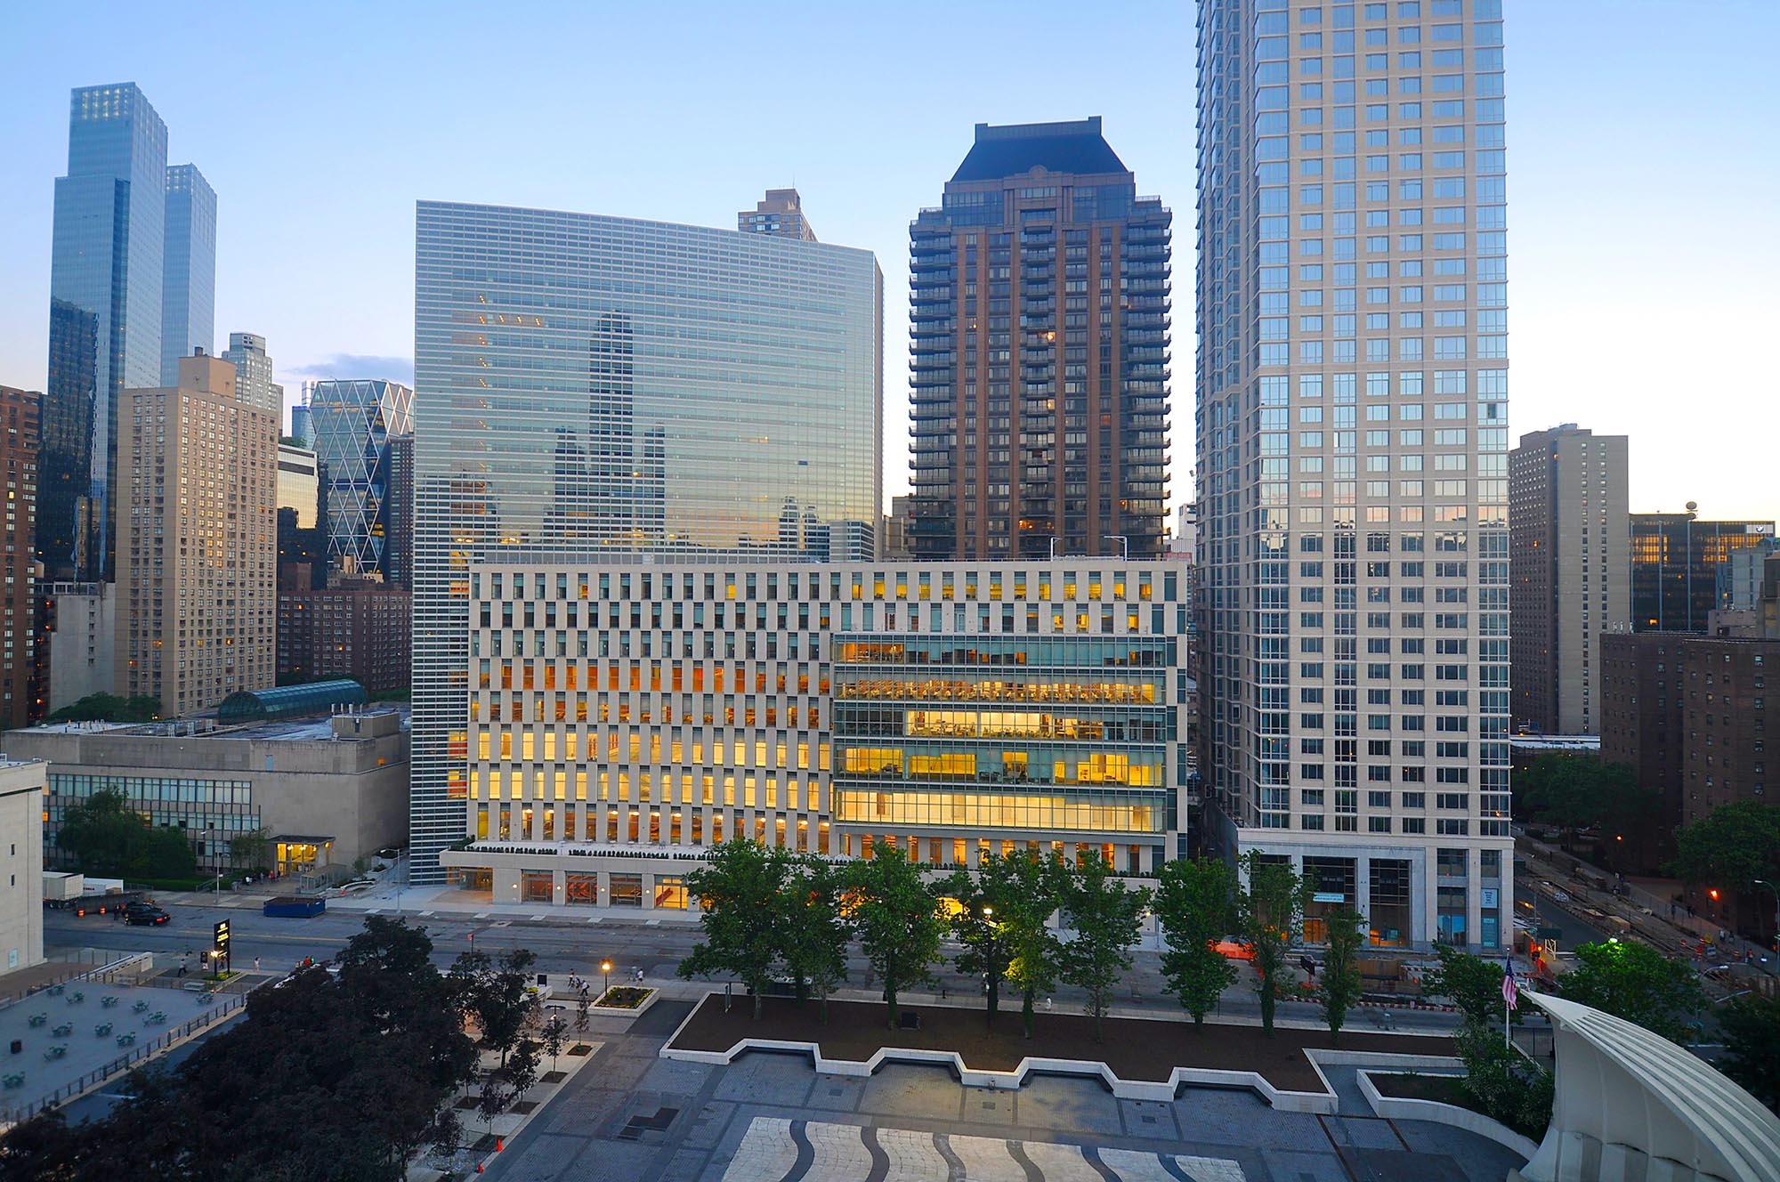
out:
{"label": "beige high-rise in front of the blue glass twin towers", "polygon": [[178,716],[276,684],[278,417],[235,367],[126,390],[117,441],[117,692]]}

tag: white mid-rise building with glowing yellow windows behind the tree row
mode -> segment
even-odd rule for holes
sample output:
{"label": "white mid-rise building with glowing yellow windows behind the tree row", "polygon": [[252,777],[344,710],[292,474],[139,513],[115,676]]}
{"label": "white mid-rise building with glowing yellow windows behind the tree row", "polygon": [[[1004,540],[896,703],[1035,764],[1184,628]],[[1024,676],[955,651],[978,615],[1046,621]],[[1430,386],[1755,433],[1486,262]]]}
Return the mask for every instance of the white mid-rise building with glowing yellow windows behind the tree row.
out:
{"label": "white mid-rise building with glowing yellow windows behind the tree row", "polygon": [[708,846],[1185,853],[1169,563],[477,563],[465,849],[497,903],[684,908]]}

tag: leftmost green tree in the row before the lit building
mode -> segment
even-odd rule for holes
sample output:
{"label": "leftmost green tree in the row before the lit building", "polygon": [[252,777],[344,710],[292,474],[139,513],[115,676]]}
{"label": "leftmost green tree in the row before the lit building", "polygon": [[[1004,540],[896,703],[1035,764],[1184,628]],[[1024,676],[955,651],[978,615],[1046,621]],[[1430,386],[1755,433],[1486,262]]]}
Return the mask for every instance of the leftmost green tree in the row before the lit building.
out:
{"label": "leftmost green tree in the row before the lit building", "polygon": [[698,899],[698,926],[705,940],[680,961],[678,972],[687,979],[732,974],[753,993],[756,1020],[785,943],[789,874],[790,863],[783,849],[733,838],[712,846],[710,863],[685,878],[687,894]]}

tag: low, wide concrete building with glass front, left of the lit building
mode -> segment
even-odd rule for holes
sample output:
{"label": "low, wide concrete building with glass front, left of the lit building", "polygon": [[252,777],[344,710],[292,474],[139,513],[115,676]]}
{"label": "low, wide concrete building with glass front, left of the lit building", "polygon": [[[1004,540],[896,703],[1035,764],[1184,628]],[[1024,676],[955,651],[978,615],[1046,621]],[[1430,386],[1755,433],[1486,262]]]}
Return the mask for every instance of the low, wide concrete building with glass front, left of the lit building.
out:
{"label": "low, wide concrete building with glass front, left of the lit building", "polygon": [[[215,726],[71,725],[7,732],[12,757],[50,765],[46,840],[62,812],[107,787],[151,824],[185,830],[205,869],[228,842],[267,830],[279,869],[351,865],[408,833],[408,730],[395,710]],[[308,847],[313,847],[310,851]]]}

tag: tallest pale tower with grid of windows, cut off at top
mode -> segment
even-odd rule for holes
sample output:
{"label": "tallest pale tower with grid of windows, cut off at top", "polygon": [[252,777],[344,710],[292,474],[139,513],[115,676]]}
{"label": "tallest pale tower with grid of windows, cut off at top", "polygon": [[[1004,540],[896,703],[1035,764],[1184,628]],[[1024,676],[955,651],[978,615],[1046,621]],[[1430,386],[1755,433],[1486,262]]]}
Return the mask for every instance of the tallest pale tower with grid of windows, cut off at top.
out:
{"label": "tallest pale tower with grid of windows, cut off at top", "polygon": [[1212,840],[1374,943],[1501,947],[1501,0],[1202,0],[1200,769]]}

